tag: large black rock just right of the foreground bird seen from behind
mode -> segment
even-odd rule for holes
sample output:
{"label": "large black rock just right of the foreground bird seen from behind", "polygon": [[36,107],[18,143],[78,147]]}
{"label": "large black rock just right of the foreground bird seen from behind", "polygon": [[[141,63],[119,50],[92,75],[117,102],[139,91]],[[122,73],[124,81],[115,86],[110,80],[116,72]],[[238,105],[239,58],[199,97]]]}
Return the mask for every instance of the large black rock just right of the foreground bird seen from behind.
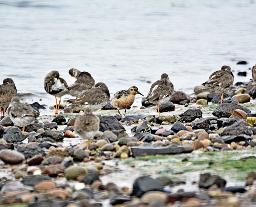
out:
{"label": "large black rock just right of the foreground bird seen from behind", "polygon": [[101,116],[100,117],[100,131],[106,130],[124,130],[125,128],[119,123],[119,121],[113,116]]}

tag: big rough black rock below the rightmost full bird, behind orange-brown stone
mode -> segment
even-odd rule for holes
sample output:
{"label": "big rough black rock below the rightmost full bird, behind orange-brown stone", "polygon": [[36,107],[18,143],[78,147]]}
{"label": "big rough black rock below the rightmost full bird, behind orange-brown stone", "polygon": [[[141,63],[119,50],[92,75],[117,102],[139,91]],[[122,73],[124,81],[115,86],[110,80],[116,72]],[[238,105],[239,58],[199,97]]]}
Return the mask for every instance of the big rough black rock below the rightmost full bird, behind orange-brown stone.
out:
{"label": "big rough black rock below the rightmost full bird, behind orange-brown stone", "polygon": [[235,109],[241,109],[243,110],[245,113],[248,114],[248,116],[250,116],[251,111],[245,107],[242,107],[239,104],[236,104],[235,102],[232,102],[230,104],[221,104],[218,107],[216,107],[214,109],[214,111],[212,112],[212,114],[215,117],[221,118],[221,117],[230,117],[233,113],[233,111]]}

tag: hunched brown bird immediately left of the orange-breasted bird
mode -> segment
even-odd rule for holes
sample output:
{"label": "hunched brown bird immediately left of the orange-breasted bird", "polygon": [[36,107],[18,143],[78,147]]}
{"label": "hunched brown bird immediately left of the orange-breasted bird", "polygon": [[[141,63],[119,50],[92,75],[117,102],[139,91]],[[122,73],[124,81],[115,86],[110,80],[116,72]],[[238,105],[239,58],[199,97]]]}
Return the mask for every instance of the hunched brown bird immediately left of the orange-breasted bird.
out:
{"label": "hunched brown bird immediately left of the orange-breasted bird", "polygon": [[109,90],[106,84],[97,83],[95,88],[87,90],[77,99],[68,100],[72,106],[78,107],[81,110],[91,108],[92,111],[97,111],[104,107],[110,98]]}

